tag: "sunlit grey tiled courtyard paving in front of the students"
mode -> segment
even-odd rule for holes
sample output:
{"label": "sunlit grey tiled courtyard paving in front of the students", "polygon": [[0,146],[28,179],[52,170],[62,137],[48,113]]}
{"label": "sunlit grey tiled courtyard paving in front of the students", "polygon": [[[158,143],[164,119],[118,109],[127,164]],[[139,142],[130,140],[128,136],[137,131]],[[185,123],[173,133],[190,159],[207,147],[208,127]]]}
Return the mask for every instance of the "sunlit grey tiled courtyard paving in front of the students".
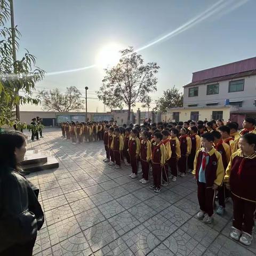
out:
{"label": "sunlit grey tiled courtyard paving in front of the students", "polygon": [[198,211],[192,175],[179,178],[156,194],[130,167],[102,162],[103,142],[72,145],[61,130],[46,129],[44,138],[28,143],[59,159],[58,169],[31,173],[41,190],[45,223],[34,255],[256,255],[253,244],[229,238],[232,206],[212,225],[195,218]]}

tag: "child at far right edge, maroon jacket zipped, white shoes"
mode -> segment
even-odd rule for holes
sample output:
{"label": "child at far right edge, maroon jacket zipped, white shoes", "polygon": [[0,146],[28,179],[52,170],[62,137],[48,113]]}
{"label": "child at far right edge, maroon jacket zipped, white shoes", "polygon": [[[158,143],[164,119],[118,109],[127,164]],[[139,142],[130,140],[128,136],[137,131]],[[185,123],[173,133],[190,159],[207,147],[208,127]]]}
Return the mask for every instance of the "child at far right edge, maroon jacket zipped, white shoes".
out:
{"label": "child at far right edge, maroon jacket zipped, white shoes", "polygon": [[256,206],[256,134],[247,133],[239,140],[239,148],[230,159],[225,181],[233,195],[233,226],[230,236],[245,245],[252,241]]}

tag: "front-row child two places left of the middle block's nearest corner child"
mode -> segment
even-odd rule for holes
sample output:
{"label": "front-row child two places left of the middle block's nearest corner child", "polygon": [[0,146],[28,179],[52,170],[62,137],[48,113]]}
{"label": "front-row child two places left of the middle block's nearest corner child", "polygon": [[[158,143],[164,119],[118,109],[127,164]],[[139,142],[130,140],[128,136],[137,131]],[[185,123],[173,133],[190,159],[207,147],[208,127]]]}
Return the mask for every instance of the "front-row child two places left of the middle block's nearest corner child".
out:
{"label": "front-row child two places left of the middle block's nearest corner child", "polygon": [[132,166],[132,173],[129,175],[132,179],[137,178],[138,174],[138,159],[140,154],[140,140],[138,138],[138,130],[131,130],[131,137],[128,143],[128,151]]}

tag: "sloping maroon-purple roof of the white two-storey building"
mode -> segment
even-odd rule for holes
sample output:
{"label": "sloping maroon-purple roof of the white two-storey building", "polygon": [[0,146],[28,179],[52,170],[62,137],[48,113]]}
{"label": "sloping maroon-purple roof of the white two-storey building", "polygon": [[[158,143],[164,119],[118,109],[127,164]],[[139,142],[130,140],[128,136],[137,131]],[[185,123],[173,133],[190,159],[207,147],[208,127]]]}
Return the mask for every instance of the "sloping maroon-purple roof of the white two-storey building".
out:
{"label": "sloping maroon-purple roof of the white two-storey building", "polygon": [[197,84],[213,83],[226,79],[234,79],[243,76],[256,74],[256,57],[240,60],[226,65],[209,68],[193,73],[192,82],[185,85],[193,86]]}

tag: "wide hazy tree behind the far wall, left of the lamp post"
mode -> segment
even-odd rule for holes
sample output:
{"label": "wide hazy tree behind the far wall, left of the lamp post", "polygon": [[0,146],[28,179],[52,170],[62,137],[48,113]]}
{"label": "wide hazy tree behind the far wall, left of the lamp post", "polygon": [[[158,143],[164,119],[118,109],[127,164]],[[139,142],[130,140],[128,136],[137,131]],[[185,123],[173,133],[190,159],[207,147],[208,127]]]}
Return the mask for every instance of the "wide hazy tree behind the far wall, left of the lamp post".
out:
{"label": "wide hazy tree behind the far wall, left of the lamp post", "polygon": [[65,94],[59,89],[50,91],[39,91],[38,98],[42,101],[42,108],[47,111],[79,111],[84,109],[84,100],[81,99],[81,92],[75,87],[67,87]]}

